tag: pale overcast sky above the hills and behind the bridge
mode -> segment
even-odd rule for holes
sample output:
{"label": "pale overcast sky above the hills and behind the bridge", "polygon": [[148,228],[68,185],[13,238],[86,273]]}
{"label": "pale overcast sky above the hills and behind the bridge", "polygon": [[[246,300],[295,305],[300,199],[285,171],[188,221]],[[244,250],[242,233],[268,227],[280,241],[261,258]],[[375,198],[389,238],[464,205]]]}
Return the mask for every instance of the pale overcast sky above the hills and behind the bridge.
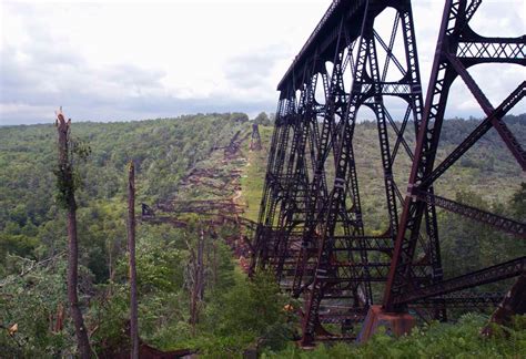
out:
{"label": "pale overcast sky above the hills and behind the bridge", "polygon": [[[273,112],[275,86],[330,0],[0,0],[0,125],[121,121],[196,112]],[[443,1],[414,0],[427,86]],[[526,1],[485,1],[473,28],[522,35]],[[492,69],[488,71],[487,69]],[[473,71],[494,105],[525,79],[516,65]],[[513,113],[526,112],[520,103]],[[456,85],[448,115],[482,116]]]}

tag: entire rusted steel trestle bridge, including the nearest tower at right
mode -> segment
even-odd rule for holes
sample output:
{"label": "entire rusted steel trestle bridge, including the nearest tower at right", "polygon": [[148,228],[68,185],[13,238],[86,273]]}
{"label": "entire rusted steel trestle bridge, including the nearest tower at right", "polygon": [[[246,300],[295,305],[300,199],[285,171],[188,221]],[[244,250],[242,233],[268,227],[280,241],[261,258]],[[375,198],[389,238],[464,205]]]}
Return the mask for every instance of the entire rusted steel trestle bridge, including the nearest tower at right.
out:
{"label": "entire rusted steel trestle bridge, including the nearest tower at right", "polygon": [[[443,278],[435,206],[524,236],[524,224],[435,196],[433,189],[433,178],[492,126],[499,129],[524,170],[524,151],[500,121],[524,96],[524,83],[493,109],[465,70],[481,62],[524,65],[524,38],[476,35],[467,22],[479,2],[446,1],[425,107],[409,0],[333,1],[280,82],[252,269],[272,268],[282,287],[303,300],[302,345],[354,338],[350,329],[375,302],[396,312],[409,305],[425,307],[433,317],[445,319],[446,305],[498,300],[490,295],[445,297],[451,288],[436,289],[449,281]],[[434,168],[447,89],[456,74],[488,119]],[[399,105],[394,106],[392,99],[405,104],[404,113],[396,115],[399,121],[393,114]],[[378,135],[385,193],[382,223],[365,215],[364,189],[358,186],[355,124],[358,111],[365,109],[374,114]],[[404,156],[413,163],[412,171],[398,161]],[[409,172],[406,195],[398,186],[406,185],[404,175]],[[486,271],[498,279],[496,273],[507,266],[502,278],[517,275],[524,260]],[[423,288],[431,291],[416,295]],[[341,332],[325,330],[325,324],[338,325]]]}

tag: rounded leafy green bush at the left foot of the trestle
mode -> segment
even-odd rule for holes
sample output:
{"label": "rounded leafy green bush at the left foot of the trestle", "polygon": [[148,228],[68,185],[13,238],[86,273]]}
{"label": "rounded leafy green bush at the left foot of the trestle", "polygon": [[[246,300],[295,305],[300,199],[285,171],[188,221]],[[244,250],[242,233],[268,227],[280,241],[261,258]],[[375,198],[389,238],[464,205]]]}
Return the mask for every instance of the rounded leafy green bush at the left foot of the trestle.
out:
{"label": "rounded leafy green bush at the left foot of the trestle", "polygon": [[270,273],[240,278],[211,302],[199,335],[185,345],[205,358],[241,357],[251,346],[284,348],[295,329],[295,316],[284,310],[287,304]]}

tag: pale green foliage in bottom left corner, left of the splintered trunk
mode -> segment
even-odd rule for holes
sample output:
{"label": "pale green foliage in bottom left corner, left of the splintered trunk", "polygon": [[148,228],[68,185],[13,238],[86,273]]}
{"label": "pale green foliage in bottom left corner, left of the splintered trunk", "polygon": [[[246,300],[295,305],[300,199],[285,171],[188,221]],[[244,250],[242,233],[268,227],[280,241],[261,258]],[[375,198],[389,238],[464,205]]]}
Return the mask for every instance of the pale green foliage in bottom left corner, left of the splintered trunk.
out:
{"label": "pale green foliage in bottom left corner, left of the splintered trunk", "polygon": [[17,259],[14,268],[26,275],[10,275],[0,283],[0,325],[18,331],[10,336],[0,330],[0,352],[8,358],[67,357],[75,346],[72,326],[60,332],[50,328],[55,324],[60,307],[67,306],[65,256],[47,266]]}

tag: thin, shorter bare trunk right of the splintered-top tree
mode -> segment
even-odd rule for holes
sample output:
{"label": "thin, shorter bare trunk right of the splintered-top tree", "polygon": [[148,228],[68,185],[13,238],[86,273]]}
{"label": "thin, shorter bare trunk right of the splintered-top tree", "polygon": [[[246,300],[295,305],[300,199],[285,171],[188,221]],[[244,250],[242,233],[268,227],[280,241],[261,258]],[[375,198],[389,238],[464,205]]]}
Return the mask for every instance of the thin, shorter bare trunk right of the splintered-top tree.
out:
{"label": "thin, shorter bare trunk right of the splintered-top tree", "polygon": [[128,249],[130,250],[130,338],[131,358],[139,358],[139,317],[136,302],[135,268],[135,167],[133,161],[128,167]]}

